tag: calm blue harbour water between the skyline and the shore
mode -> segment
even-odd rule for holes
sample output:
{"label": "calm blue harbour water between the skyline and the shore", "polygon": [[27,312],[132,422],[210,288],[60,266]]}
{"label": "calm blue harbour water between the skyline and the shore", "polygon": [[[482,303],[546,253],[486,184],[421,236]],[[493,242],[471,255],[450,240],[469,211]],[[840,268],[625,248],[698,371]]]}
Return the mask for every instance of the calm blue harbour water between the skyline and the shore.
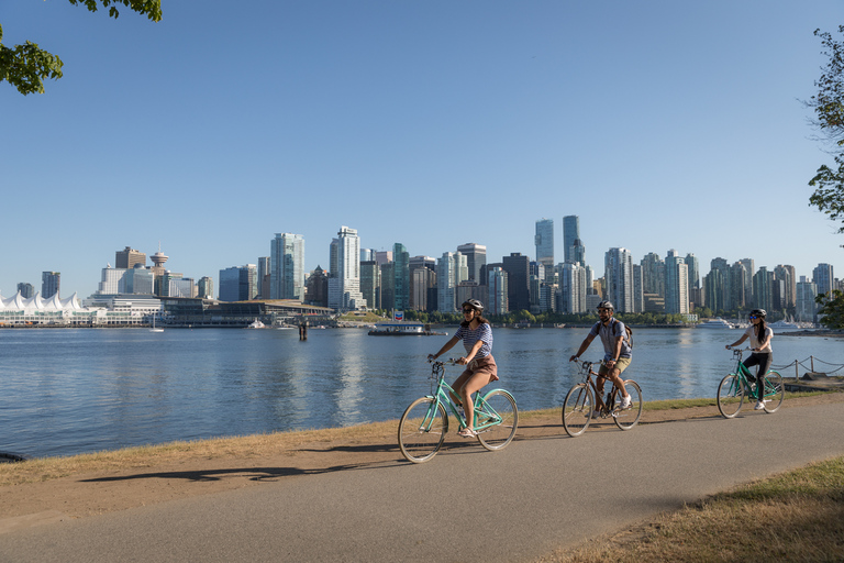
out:
{"label": "calm blue harbour water between the skyline and the shore", "polygon": [[[575,383],[568,356],[587,332],[495,329],[496,386],[512,391],[520,409],[559,406]],[[626,377],[645,400],[712,397],[733,367],[724,344],[738,334],[637,329]],[[357,329],[311,330],[306,342],[296,330],[271,329],[0,330],[0,451],[70,455],[398,419],[430,393],[425,356],[447,338],[373,338]],[[806,361],[800,375],[810,356],[817,371],[844,364],[841,340],[779,334],[773,345],[777,366]],[[602,355],[596,341],[585,358]],[[457,375],[455,367],[447,378]]]}

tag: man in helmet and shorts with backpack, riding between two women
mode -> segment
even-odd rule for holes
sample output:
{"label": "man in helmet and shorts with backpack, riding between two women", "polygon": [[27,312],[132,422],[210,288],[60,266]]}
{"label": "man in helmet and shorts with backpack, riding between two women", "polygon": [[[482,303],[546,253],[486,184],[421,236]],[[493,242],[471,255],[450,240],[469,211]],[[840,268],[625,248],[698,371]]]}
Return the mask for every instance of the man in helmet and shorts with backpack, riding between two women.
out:
{"label": "man in helmet and shorts with backpack, riding between two women", "polygon": [[[598,400],[603,395],[603,382],[606,379],[611,380],[615,387],[621,391],[621,408],[630,408],[632,399],[630,394],[624,388],[624,382],[621,378],[621,373],[628,368],[632,360],[632,350],[630,347],[630,339],[628,336],[624,323],[613,318],[615,307],[610,301],[601,301],[598,303],[598,318],[600,319],[595,323],[592,330],[580,344],[577,353],[568,358],[569,362],[575,362],[589,344],[592,343],[596,336],[601,338],[603,343],[603,362],[601,362],[601,368],[598,371],[598,377],[596,379],[596,388],[598,389]],[[593,416],[600,415],[600,411],[596,409]]]}

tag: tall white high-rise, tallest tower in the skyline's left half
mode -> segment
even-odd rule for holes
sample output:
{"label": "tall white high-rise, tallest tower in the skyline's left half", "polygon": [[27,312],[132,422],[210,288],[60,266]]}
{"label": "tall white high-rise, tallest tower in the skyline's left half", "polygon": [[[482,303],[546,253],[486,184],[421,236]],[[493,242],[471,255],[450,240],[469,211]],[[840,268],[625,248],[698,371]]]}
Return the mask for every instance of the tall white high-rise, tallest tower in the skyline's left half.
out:
{"label": "tall white high-rise, tallest tower in the skyline's left half", "polygon": [[[337,238],[331,241],[330,260],[329,307],[341,312],[366,308],[366,299],[360,292],[360,239],[357,229],[341,225]],[[380,262],[380,257],[377,261]]]}

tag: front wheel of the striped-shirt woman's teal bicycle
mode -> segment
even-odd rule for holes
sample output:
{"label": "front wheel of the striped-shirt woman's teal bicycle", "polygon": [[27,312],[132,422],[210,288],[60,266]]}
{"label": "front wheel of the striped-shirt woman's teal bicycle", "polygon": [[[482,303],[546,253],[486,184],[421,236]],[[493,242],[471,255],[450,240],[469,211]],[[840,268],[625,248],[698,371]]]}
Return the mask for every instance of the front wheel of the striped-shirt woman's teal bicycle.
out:
{"label": "front wheel of the striped-shirt woman's teal bicycle", "polygon": [[410,404],[399,420],[399,449],[413,463],[429,461],[443,445],[448,417],[442,404],[422,397]]}

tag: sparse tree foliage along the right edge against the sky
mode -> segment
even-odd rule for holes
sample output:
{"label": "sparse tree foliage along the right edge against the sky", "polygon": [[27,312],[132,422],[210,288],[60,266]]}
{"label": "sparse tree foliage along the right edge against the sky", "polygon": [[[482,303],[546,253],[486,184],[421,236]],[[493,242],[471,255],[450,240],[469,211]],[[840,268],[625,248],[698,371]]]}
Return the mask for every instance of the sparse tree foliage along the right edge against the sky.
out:
{"label": "sparse tree foliage along the right edge against the sky", "polygon": [[[844,35],[844,25],[839,26],[839,33]],[[823,165],[818,169],[809,183],[814,188],[809,202],[830,216],[831,220],[844,223],[844,42],[820,30],[815,30],[814,35],[821,37],[822,53],[830,60],[814,82],[818,93],[807,106],[814,111],[812,125],[833,147],[831,154],[835,165]],[[839,232],[844,233],[844,225]]]}

